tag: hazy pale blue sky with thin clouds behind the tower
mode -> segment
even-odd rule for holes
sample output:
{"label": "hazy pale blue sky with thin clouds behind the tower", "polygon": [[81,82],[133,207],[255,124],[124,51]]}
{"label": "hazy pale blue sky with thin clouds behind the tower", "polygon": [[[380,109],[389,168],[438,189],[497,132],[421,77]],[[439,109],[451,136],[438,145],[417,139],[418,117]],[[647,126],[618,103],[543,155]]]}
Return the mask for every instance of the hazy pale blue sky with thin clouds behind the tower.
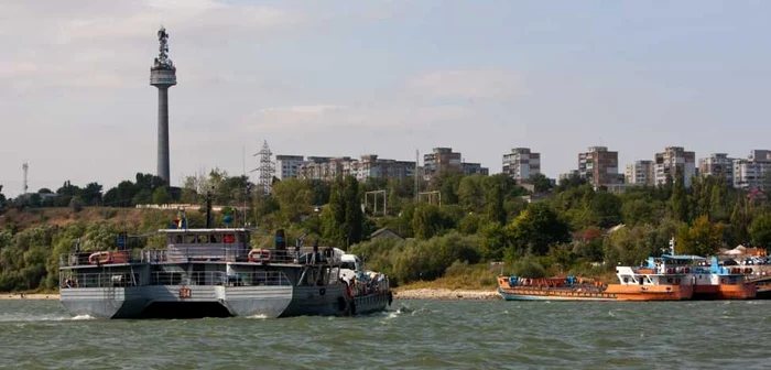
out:
{"label": "hazy pale blue sky with thin clouds behind the tower", "polygon": [[[153,173],[170,33],[172,185],[275,154],[414,160],[450,146],[556,177],[605,145],[771,148],[768,1],[0,0],[0,184]],[[246,153],[246,155],[243,155]],[[252,174],[252,178],[253,178]]]}

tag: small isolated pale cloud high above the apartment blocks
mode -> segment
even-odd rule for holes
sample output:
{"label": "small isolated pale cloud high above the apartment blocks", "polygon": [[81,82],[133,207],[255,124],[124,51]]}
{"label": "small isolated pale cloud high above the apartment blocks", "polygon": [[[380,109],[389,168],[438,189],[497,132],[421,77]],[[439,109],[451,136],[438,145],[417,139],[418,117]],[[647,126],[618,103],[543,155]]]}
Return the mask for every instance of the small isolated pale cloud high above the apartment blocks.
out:
{"label": "small isolated pale cloud high above the apartment blocks", "polygon": [[411,79],[409,89],[425,98],[509,100],[528,91],[513,70],[435,70]]}

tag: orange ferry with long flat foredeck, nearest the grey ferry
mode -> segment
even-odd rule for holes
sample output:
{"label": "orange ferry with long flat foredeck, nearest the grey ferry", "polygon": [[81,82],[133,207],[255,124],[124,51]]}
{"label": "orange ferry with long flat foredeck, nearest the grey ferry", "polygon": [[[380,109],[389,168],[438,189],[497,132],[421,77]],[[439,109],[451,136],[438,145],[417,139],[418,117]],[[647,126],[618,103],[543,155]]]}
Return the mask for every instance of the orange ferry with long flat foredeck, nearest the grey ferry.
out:
{"label": "orange ferry with long flat foredeck, nearest the grey ferry", "polygon": [[693,294],[682,273],[661,273],[648,266],[618,266],[618,284],[575,276],[522,279],[498,276],[506,301],[680,301]]}

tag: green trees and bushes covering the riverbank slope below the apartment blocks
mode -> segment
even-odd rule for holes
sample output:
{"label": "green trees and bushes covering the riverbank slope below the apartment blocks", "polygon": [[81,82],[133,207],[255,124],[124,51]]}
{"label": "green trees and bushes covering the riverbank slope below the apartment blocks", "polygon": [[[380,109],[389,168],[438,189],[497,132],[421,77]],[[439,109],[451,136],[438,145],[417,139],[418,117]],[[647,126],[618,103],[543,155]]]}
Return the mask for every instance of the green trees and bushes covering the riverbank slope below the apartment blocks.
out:
{"label": "green trees and bushes covering the riverbank slope below the apartment blocks", "polygon": [[[673,236],[678,253],[771,244],[767,197],[735,189],[724,178],[693,178],[686,188],[676,177],[620,195],[595,189],[577,177],[552,186],[539,175],[531,184],[525,188],[506,175],[444,173],[419,184],[419,192],[439,195],[431,199],[416,197],[412,178],[275,181],[271,194],[262,194],[247,177],[215,170],[205,177],[187,177],[178,188],[144,174],[104,194],[97,183],[82,188],[65,182],[56,192],[6,199],[0,187],[0,291],[55,290],[58,254],[70,251],[76,241],[84,251],[115,248],[119,232],[146,235],[178,217],[173,210],[134,205],[203,205],[207,195],[229,206],[214,225],[221,226],[222,215],[230,215],[232,225],[260,227],[253,247],[270,247],[272,231],[282,228],[290,243],[303,239],[305,244],[351,250],[370,269],[411,286],[492,287],[501,270],[523,276],[572,273],[609,279],[612,266],[660,254]],[[386,191],[386,203],[382,196],[376,198],[378,214],[371,194],[365,195],[371,191]],[[189,227],[205,225],[203,210],[186,217]],[[369,240],[380,228],[404,239]],[[162,240],[152,237],[131,244],[161,246]],[[504,262],[502,269],[491,268],[497,261]]]}

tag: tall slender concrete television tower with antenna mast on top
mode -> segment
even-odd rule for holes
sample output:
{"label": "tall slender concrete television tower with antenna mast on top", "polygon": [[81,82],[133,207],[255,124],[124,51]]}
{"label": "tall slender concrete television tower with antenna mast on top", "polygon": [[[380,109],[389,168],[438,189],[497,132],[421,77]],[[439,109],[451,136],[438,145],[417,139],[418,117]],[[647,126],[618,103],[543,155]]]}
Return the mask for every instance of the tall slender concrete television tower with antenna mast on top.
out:
{"label": "tall slender concrete television tower with antenna mast on top", "polygon": [[158,171],[156,175],[169,185],[169,88],[176,85],[176,67],[169,58],[169,33],[158,31],[159,55],[150,67],[150,85],[158,88]]}

